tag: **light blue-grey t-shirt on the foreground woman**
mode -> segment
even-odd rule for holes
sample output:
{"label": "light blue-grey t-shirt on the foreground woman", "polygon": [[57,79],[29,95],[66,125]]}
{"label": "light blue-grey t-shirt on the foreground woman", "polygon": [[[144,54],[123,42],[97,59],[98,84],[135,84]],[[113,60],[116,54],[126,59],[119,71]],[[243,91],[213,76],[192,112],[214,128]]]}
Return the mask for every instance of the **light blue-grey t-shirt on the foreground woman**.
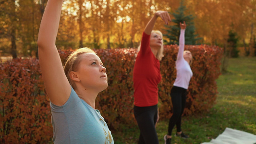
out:
{"label": "light blue-grey t-shirt on the foreground woman", "polygon": [[114,144],[113,137],[100,112],[71,90],[61,107],[50,103],[54,144]]}

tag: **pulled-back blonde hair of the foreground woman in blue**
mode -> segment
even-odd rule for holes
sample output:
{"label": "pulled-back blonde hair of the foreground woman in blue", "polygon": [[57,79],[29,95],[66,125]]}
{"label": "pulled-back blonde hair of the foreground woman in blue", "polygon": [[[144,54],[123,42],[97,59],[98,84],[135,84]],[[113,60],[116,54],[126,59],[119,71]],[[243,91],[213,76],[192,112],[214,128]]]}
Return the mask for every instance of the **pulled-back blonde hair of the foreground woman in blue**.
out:
{"label": "pulled-back blonde hair of the foreground woman in blue", "polygon": [[[72,54],[69,55],[67,58],[67,61],[64,66],[64,72],[66,74],[66,77],[68,78],[69,84],[73,87],[73,81],[69,76],[69,73],[72,71],[77,71],[78,65],[80,63],[79,55],[83,53],[94,53],[96,54],[92,49],[90,48],[79,48],[76,51],[74,51]],[[74,88],[74,87],[73,87]]]}

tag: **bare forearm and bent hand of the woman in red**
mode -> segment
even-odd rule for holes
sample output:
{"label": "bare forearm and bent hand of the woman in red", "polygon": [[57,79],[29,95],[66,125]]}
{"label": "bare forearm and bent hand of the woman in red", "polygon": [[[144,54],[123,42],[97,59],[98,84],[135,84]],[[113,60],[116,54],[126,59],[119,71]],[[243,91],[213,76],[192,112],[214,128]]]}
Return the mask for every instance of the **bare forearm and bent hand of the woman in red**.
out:
{"label": "bare forearm and bent hand of the woman in red", "polygon": [[170,15],[169,15],[168,12],[166,12],[166,11],[157,11],[154,14],[154,16],[149,20],[149,22],[146,24],[144,32],[147,35],[151,34],[158,17],[161,17],[161,19],[165,22],[165,24],[169,24],[168,22],[171,22],[171,18],[170,18]]}

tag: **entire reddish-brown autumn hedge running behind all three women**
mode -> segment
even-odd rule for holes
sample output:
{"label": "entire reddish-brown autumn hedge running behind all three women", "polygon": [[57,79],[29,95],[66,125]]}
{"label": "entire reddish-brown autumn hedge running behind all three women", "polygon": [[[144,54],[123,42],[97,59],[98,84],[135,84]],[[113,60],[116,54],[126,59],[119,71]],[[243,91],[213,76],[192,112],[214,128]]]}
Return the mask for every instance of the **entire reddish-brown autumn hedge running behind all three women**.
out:
{"label": "entire reddish-brown autumn hedge running behind all three women", "polygon": [[[219,47],[185,46],[193,54],[193,77],[190,82],[185,114],[211,108],[217,96],[216,79],[220,74],[222,49]],[[59,50],[61,60],[73,50]],[[97,97],[98,108],[110,129],[119,124],[133,126],[133,68],[135,49],[96,49],[107,69],[109,87]],[[160,62],[162,81],[159,88],[161,118],[171,116],[171,87],[176,77],[177,45],[166,46]],[[44,95],[38,60],[12,60],[0,63],[0,142],[44,143],[51,141],[50,108]]]}

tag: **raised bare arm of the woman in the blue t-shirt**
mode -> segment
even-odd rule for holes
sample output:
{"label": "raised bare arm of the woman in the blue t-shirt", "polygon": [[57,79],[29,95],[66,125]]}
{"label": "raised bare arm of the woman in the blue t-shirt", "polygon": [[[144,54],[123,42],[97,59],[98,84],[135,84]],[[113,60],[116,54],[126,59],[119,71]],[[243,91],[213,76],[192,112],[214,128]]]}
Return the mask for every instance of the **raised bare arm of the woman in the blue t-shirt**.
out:
{"label": "raised bare arm of the woman in the blue t-shirt", "polygon": [[43,81],[50,101],[62,106],[68,100],[71,86],[65,76],[55,46],[63,0],[49,0],[38,33],[38,56]]}

